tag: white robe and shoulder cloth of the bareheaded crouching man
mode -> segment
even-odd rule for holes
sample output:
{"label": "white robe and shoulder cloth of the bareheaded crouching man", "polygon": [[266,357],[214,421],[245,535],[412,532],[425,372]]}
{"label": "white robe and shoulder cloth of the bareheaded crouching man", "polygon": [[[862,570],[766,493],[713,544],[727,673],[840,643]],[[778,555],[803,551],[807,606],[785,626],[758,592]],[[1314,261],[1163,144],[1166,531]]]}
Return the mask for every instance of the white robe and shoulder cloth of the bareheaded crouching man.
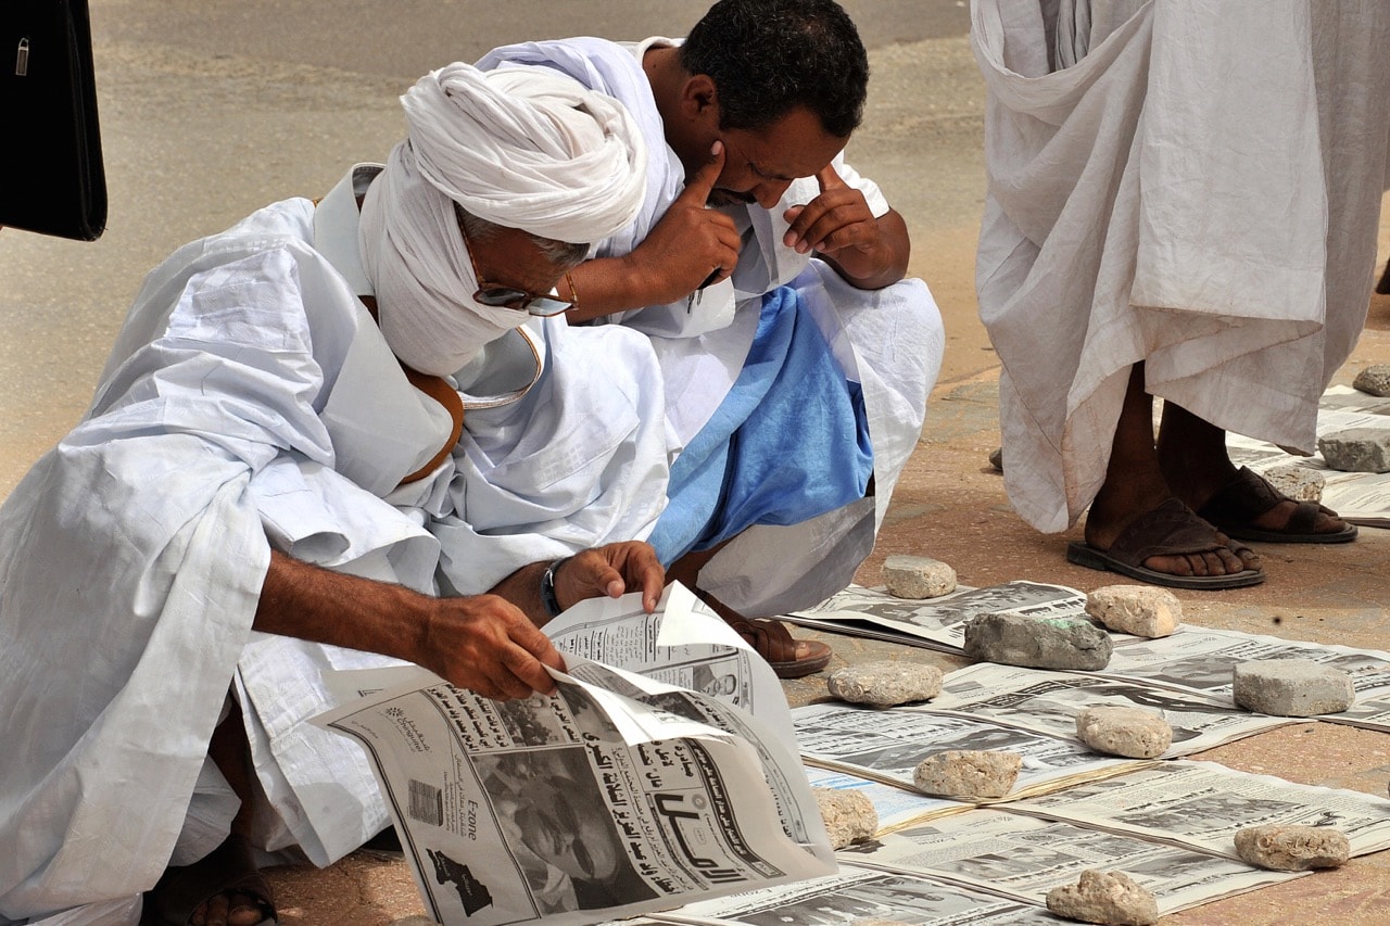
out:
{"label": "white robe and shoulder cloth of the bareheaded crouching man", "polygon": [[[495,49],[482,70],[542,65],[616,97],[646,136],[646,202],[631,227],[612,235],[595,256],[632,252],[685,186],[680,159],[666,145],[664,127],[642,54],[653,44],[575,38]],[[888,203],[873,181],[838,156],[835,170],[865,193],[876,216]],[[751,616],[785,613],[819,603],[848,584],[873,548],[894,485],[916,446],[926,399],[941,366],[945,335],[930,292],[920,279],[877,291],[844,282],[828,264],[781,243],[783,213],[819,193],[815,178],[792,184],[773,210],[731,207],[745,246],[731,279],[695,300],[610,316],[607,321],[651,336],[666,384],[666,417],[678,446],[709,420],[742,370],[763,293],[796,289],[845,377],[863,385],[874,456],[874,496],[791,527],[759,524],[721,549],[702,570],[701,587]],[[614,325],[607,325],[614,327]]]}

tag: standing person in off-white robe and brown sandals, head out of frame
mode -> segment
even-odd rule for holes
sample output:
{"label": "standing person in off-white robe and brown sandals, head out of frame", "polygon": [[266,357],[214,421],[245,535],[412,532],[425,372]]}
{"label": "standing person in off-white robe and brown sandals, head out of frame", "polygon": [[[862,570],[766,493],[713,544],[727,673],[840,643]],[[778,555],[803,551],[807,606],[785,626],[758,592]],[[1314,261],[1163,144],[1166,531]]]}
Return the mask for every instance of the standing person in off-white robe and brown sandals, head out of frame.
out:
{"label": "standing person in off-white robe and brown sandals, head out of frame", "polygon": [[1311,453],[1361,332],[1390,4],[974,0],[972,15],[988,88],[977,288],[1015,509],[1061,531],[1090,506],[1069,559],[1182,588],[1264,581],[1240,539],[1354,539],[1237,471],[1226,431]]}

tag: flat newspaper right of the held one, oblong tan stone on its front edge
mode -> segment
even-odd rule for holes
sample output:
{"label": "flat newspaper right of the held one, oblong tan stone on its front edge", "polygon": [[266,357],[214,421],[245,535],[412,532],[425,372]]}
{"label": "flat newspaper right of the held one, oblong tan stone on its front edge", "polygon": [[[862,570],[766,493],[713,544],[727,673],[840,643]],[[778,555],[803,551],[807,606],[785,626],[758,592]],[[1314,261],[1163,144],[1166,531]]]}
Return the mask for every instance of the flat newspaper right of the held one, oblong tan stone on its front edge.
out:
{"label": "flat newspaper right of the held one, oblong tan stone on its front edge", "polygon": [[[1019,779],[1001,801],[1144,765],[1091,752],[1076,738],[1059,740],[974,717],[924,713],[910,706],[874,709],[827,702],[796,708],[792,717],[806,762],[913,790],[912,773],[917,765],[947,749],[1019,754],[1023,759]],[[937,815],[962,806],[958,801],[940,801],[940,805],[924,811]]]}

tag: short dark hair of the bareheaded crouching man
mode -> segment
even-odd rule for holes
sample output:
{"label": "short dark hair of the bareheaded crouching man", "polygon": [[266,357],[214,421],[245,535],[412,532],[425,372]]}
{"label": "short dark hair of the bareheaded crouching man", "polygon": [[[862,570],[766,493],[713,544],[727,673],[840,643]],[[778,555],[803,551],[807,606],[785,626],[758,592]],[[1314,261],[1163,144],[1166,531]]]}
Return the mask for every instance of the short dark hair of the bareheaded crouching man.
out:
{"label": "short dark hair of the bareheaded crouching man", "polygon": [[834,0],[719,0],[681,46],[681,67],[714,81],[720,128],[766,128],[805,106],[849,138],[869,92],[869,56]]}

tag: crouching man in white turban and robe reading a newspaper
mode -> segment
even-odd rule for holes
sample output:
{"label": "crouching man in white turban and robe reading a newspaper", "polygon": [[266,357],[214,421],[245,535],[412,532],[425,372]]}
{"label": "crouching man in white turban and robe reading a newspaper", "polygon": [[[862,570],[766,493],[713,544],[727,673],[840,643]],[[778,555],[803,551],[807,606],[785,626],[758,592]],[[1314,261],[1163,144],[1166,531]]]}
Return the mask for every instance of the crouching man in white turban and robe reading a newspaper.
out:
{"label": "crouching man in white turban and robe reading a newspaper", "polygon": [[[304,723],[322,669],[525,697],[563,666],[559,608],[655,608],[651,346],[538,317],[641,206],[641,135],[553,74],[455,64],[402,101],[386,165],[147,277],[85,419],[0,509],[0,920],[272,919],[267,852],[328,865],[388,822],[360,748]],[[474,412],[502,407],[535,419],[489,434]],[[481,455],[513,482],[474,485]],[[466,577],[427,530],[460,505],[524,509],[538,541]]]}

